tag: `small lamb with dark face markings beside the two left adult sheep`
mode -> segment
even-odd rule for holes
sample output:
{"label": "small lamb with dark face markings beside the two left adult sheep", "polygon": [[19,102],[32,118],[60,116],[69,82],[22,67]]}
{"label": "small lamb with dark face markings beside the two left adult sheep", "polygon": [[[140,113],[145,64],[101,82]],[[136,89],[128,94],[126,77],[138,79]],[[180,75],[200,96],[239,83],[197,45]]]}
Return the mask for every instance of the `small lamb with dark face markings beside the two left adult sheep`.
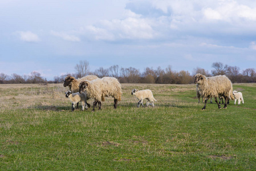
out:
{"label": "small lamb with dark face markings beside the two left adult sheep", "polygon": [[72,102],[72,109],[71,109],[72,112],[75,110],[75,104],[78,103],[79,101],[81,101],[82,103],[82,111],[84,110],[84,107],[88,109],[86,105],[86,93],[79,93],[79,92],[72,93],[69,90],[65,93],[66,93],[66,97],[70,99],[70,101]]}

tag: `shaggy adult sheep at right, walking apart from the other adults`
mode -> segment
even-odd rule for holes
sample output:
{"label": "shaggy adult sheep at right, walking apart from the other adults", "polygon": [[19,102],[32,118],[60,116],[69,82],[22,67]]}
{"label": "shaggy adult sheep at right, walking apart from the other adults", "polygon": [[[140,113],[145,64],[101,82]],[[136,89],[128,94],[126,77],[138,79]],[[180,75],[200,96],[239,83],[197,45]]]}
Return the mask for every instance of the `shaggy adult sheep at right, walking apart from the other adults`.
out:
{"label": "shaggy adult sheep at right, walking apart from the other adults", "polygon": [[206,108],[206,102],[210,97],[214,97],[219,109],[221,109],[221,105],[218,103],[217,97],[224,97],[224,109],[227,108],[228,99],[234,100],[234,96],[231,93],[233,91],[232,83],[225,75],[206,78],[205,75],[197,74],[194,83],[198,84],[200,95],[206,98],[203,110]]}

